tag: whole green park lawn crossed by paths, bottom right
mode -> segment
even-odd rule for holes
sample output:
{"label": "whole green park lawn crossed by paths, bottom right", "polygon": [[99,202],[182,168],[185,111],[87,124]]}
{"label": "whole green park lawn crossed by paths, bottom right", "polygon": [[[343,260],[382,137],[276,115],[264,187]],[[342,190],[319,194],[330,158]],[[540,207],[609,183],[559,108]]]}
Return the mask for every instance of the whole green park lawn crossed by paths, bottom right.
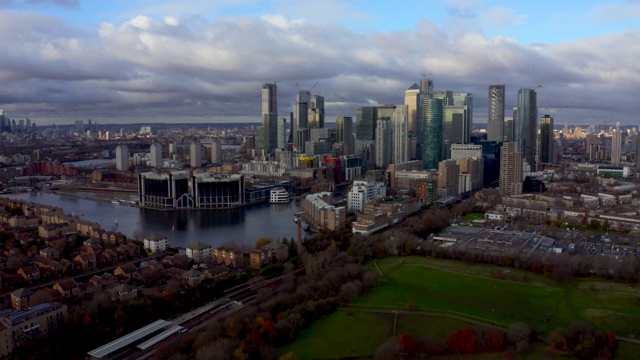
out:
{"label": "whole green park lawn crossed by paths, bottom right", "polygon": [[[314,322],[279,353],[292,351],[300,359],[372,356],[394,330],[418,340],[444,340],[464,326],[506,328],[514,322],[548,333],[582,320],[619,336],[640,338],[637,287],[595,279],[556,284],[529,272],[426,257],[396,257],[377,264],[384,276],[371,292]],[[378,272],[372,263],[367,266]],[[413,310],[407,308],[409,302]],[[540,355],[541,349],[532,350]],[[621,344],[618,357],[639,352],[640,345]],[[485,355],[491,354],[477,358]],[[524,358],[528,355],[533,354]]]}

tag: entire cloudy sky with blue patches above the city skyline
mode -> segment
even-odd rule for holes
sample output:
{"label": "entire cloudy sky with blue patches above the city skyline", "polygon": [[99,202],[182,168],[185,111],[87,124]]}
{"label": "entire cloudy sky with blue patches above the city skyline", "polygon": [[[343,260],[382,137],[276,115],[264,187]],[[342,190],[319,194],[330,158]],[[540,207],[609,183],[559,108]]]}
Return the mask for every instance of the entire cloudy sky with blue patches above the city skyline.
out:
{"label": "entire cloudy sky with blue patches above the city skyline", "polygon": [[[395,3],[395,5],[391,5]],[[260,121],[296,87],[327,121],[402,103],[426,74],[538,88],[558,124],[640,124],[640,0],[0,0],[0,108],[39,124]],[[507,110],[507,114],[510,114]]]}

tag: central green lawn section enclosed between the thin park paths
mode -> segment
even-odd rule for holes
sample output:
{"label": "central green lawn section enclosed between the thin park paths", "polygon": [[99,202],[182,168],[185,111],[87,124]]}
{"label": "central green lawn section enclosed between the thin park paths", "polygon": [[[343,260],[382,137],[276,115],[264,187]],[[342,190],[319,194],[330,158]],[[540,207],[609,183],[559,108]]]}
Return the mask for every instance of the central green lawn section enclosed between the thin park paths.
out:
{"label": "central green lawn section enclosed between the thin park paths", "polygon": [[515,321],[546,326],[545,319],[565,292],[550,286],[439,270],[431,267],[427,258],[402,260],[390,259],[390,266],[381,267],[385,276],[379,285],[353,305],[405,309],[407,302],[413,301],[421,311],[447,312],[504,327]]}

